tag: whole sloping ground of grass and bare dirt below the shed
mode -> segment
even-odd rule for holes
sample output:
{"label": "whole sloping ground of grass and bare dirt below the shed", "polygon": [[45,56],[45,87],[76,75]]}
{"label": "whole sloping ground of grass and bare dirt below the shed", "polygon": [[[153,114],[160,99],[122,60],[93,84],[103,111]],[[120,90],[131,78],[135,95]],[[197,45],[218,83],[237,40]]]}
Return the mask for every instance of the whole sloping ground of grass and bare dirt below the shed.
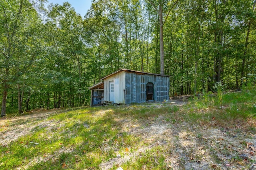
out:
{"label": "whole sloping ground of grass and bare dirt below the shed", "polygon": [[[256,90],[0,120],[0,169],[248,169]],[[256,165],[255,165],[256,166]]]}

